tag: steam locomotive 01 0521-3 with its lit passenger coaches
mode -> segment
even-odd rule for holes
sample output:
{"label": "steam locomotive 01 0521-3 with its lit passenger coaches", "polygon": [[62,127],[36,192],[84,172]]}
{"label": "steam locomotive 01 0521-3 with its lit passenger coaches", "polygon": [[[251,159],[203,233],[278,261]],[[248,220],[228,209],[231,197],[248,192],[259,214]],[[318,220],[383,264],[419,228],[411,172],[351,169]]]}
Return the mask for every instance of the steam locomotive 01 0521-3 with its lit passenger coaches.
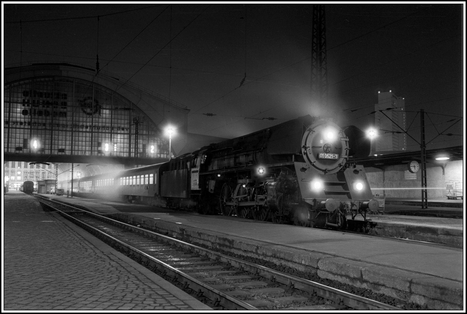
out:
{"label": "steam locomotive 01 0521-3 with its lit passenger coaches", "polygon": [[[346,135],[349,133],[349,136]],[[363,132],[306,115],[167,162],[73,182],[74,195],[300,226],[347,228],[376,211]],[[354,146],[351,148],[351,146]],[[366,219],[366,218],[365,218]]]}

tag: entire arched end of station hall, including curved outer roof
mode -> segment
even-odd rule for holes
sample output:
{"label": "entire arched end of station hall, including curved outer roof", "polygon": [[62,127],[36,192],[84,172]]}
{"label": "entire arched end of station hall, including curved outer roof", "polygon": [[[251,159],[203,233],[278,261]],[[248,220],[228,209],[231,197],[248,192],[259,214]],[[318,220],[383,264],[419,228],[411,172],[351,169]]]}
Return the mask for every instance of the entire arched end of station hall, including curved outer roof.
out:
{"label": "entire arched end of station hall, including curved outer roof", "polygon": [[4,77],[5,160],[71,162],[64,157],[80,156],[151,164],[173,154],[165,126],[186,135],[185,106],[109,73],[36,63],[6,68]]}

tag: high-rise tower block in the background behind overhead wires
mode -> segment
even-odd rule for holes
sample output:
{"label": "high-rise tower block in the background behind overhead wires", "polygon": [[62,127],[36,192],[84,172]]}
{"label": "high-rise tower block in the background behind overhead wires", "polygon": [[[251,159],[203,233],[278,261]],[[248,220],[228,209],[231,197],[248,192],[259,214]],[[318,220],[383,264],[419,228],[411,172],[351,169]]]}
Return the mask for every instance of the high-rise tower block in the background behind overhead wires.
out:
{"label": "high-rise tower block in the background behind overhead wires", "polygon": [[[383,110],[387,117],[380,110]],[[380,131],[375,139],[374,151],[407,150],[407,135],[404,133],[407,131],[404,98],[397,97],[391,91],[378,92],[375,127]]]}

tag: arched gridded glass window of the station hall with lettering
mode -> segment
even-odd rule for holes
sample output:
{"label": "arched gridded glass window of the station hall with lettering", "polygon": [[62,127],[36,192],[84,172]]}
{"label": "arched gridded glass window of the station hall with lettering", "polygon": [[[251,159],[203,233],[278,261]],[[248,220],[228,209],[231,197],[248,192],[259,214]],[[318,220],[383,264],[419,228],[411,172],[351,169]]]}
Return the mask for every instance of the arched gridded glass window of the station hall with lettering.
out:
{"label": "arched gridded glass window of the station hall with lettering", "polygon": [[99,84],[37,77],[4,86],[4,152],[168,158],[168,140],[136,105]]}

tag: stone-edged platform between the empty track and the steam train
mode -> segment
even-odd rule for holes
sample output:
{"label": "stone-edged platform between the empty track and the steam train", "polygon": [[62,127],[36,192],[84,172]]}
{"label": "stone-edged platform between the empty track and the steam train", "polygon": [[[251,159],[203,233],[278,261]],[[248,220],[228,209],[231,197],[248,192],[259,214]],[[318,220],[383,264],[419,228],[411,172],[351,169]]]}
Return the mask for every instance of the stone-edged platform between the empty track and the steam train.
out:
{"label": "stone-edged platform between the empty track and the steam train", "polygon": [[[462,248],[237,217],[205,216],[145,205],[128,206],[78,197],[44,196],[157,232],[167,232],[194,244],[246,253],[299,271],[316,273],[323,279],[333,279],[427,305],[430,309],[464,308],[465,255]],[[382,216],[395,217],[381,215],[378,218],[382,219]],[[463,230],[462,220],[450,220],[457,222],[458,230]],[[431,223],[439,225],[439,220]],[[415,224],[422,228],[423,221]],[[427,225],[425,223],[425,227],[430,229]]]}

